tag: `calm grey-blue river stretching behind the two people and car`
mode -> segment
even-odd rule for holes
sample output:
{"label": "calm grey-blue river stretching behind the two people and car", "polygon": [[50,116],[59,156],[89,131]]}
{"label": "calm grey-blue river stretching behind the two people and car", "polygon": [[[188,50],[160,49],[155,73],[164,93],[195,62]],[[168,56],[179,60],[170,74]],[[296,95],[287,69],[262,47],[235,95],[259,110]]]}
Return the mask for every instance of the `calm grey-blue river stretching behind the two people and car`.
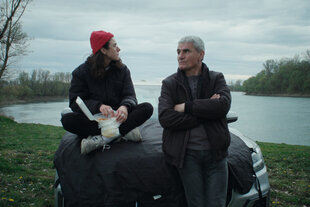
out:
{"label": "calm grey-blue river stretching behind the two people and car", "polygon": [[[139,102],[154,106],[157,117],[160,86],[137,85]],[[19,123],[41,123],[61,126],[60,112],[68,100],[16,104],[0,108],[0,113],[14,117]],[[229,126],[256,141],[310,146],[310,98],[248,96],[232,92],[231,111],[238,121]]]}

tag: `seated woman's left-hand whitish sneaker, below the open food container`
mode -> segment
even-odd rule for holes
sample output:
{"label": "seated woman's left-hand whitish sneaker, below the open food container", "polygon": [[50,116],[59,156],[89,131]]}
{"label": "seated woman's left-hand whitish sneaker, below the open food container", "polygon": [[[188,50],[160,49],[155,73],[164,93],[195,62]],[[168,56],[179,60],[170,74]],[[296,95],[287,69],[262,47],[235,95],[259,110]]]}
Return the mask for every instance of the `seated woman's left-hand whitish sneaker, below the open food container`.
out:
{"label": "seated woman's left-hand whitish sneaker, below the open food container", "polygon": [[119,136],[114,136],[111,138],[107,138],[101,135],[96,136],[88,136],[81,141],[81,154],[88,154],[91,151],[103,147],[104,149],[110,149],[108,143],[118,138]]}

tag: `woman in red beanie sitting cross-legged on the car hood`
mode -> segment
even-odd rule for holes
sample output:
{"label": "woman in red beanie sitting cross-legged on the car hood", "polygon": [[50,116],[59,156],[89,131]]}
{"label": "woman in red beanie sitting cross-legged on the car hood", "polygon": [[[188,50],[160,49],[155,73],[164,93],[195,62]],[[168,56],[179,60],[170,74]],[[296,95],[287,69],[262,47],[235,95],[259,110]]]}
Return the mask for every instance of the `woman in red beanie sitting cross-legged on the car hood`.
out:
{"label": "woman in red beanie sitting cross-legged on the car hood", "polygon": [[114,35],[94,31],[90,44],[92,54],[72,72],[69,106],[73,112],[63,115],[61,119],[64,129],[84,138],[81,142],[82,154],[103,146],[107,139],[101,135],[98,123],[90,121],[82,113],[76,104],[78,96],[92,114],[116,117],[120,123],[119,133],[125,137],[133,132],[139,135],[134,129],[153,113],[151,104],[137,103],[130,71],[119,57],[120,48]]}

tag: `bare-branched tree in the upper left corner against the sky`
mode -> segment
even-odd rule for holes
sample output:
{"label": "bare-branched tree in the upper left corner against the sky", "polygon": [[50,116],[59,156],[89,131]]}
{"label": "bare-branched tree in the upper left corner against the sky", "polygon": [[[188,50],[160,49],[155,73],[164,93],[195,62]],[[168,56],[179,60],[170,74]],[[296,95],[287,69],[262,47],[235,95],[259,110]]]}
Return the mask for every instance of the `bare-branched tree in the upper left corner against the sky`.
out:
{"label": "bare-branched tree in the upper left corner against the sky", "polygon": [[31,0],[1,0],[0,3],[0,79],[14,57],[25,55],[28,36],[20,19]]}

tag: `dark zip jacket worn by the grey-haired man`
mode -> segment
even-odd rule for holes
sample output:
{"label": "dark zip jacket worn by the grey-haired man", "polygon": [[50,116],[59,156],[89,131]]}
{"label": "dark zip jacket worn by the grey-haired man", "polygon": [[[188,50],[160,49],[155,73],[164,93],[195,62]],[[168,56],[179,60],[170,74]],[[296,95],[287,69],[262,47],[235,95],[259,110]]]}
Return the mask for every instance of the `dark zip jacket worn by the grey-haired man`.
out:
{"label": "dark zip jacket worn by the grey-haired man", "polygon": [[[210,99],[213,94],[219,99]],[[176,104],[185,103],[185,112],[174,110]],[[164,128],[163,151],[166,161],[176,167],[183,166],[190,129],[203,124],[216,159],[227,156],[230,134],[226,114],[230,109],[231,96],[222,73],[209,71],[202,65],[198,82],[198,98],[193,100],[183,71],[167,77],[162,82],[158,116]]]}

